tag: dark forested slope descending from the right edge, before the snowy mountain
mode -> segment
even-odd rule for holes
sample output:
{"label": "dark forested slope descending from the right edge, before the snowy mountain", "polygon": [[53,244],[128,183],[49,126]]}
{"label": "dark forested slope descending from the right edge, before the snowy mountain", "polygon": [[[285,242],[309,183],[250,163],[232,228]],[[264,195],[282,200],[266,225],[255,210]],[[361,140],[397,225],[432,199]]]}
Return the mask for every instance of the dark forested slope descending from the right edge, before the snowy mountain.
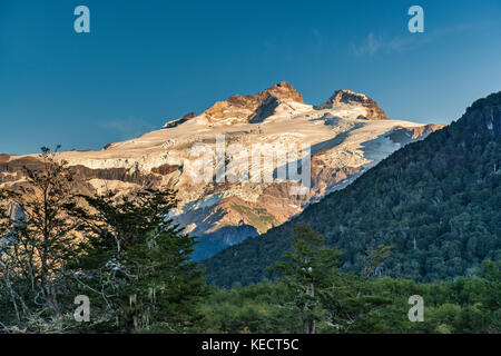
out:
{"label": "dark forested slope descending from the right edge, before the snowy mountain", "polygon": [[[501,92],[478,100],[451,126],[394,152],[343,190],[281,227],[205,260],[209,283],[229,287],[269,277],[266,267],[308,224],[340,248],[343,268],[393,246],[380,276],[455,278],[501,257]],[[400,135],[394,132],[393,135]]]}

